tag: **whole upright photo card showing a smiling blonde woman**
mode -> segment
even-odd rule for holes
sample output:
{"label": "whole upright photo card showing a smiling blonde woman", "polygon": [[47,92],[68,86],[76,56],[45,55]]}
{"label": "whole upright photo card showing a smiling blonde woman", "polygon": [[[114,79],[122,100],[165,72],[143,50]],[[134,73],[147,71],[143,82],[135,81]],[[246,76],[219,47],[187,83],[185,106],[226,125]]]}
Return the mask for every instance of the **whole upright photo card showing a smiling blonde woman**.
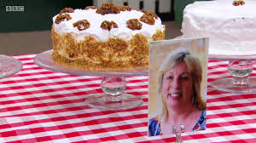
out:
{"label": "whole upright photo card showing a smiling blonde woman", "polygon": [[148,136],[207,129],[208,41],[150,43]]}

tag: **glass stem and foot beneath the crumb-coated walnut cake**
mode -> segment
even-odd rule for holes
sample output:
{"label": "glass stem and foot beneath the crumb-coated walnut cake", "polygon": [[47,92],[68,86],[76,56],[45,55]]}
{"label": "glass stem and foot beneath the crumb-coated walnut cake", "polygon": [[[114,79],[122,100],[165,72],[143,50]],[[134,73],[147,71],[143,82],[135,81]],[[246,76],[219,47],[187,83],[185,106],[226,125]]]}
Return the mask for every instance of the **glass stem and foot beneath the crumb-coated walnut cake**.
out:
{"label": "glass stem and foot beneath the crumb-coated walnut cake", "polygon": [[92,94],[86,98],[88,106],[107,110],[125,110],[143,104],[140,96],[124,94],[126,89],[125,77],[103,77],[101,87],[103,93]]}

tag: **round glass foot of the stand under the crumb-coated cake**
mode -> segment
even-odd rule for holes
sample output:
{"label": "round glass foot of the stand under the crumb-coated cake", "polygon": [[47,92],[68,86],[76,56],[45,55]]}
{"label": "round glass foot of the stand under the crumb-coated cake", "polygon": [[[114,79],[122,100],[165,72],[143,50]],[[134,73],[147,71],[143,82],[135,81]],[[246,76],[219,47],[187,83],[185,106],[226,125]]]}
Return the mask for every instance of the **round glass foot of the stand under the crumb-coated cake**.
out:
{"label": "round glass foot of the stand under the crumb-coated cake", "polygon": [[140,97],[131,94],[121,94],[117,101],[110,101],[109,98],[115,97],[111,97],[108,94],[91,94],[85,99],[85,103],[93,108],[107,110],[125,110],[143,104],[143,100]]}

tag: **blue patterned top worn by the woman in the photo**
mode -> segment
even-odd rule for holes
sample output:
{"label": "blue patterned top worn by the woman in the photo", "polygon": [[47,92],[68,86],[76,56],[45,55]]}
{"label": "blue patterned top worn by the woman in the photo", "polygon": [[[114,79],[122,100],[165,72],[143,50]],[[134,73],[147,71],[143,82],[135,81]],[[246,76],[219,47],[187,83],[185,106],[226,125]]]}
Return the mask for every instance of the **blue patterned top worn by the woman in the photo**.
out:
{"label": "blue patterned top worn by the woman in the photo", "polygon": [[[186,128],[186,127],[185,127]],[[207,111],[204,109],[201,112],[201,116],[199,117],[197,123],[195,123],[193,131],[205,130],[207,129]],[[158,123],[158,117],[153,117],[149,120],[148,123],[148,136],[154,135],[162,135],[160,130],[160,123]]]}

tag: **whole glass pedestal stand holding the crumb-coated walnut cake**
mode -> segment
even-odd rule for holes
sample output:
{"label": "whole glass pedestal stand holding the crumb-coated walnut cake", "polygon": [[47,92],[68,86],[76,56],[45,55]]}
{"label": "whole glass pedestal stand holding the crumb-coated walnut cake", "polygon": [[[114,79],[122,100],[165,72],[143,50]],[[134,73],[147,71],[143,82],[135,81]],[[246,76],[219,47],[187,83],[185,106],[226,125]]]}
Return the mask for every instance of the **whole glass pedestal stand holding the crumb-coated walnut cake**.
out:
{"label": "whole glass pedestal stand holding the crumb-coated walnut cake", "polygon": [[102,77],[101,88],[103,93],[90,94],[85,103],[93,108],[108,110],[131,109],[143,104],[143,99],[132,94],[123,94],[126,88],[125,77],[148,75],[148,67],[136,69],[119,70],[87,70],[82,68],[72,68],[61,66],[51,60],[50,56],[53,50],[38,54],[35,63],[47,70],[54,72],[63,72],[73,75]]}

